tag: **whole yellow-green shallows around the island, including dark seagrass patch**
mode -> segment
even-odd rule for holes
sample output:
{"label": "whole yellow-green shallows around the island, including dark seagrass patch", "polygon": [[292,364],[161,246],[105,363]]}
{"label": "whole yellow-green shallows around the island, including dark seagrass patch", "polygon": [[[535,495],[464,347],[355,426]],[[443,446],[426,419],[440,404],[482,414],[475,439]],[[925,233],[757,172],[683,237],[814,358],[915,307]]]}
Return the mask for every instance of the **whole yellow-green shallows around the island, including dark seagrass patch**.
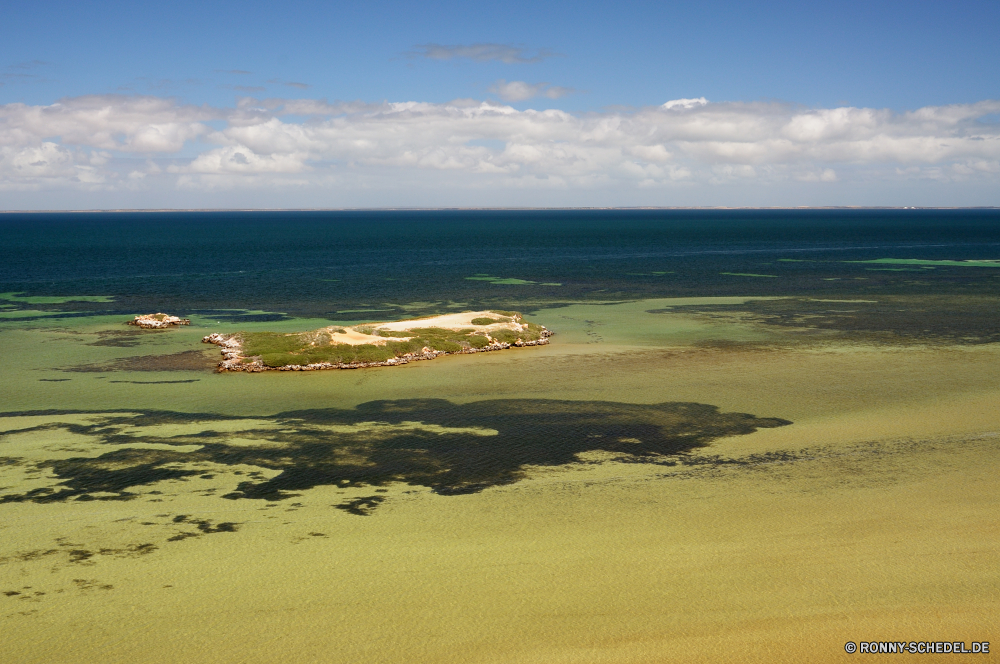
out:
{"label": "whole yellow-green shallows around the island, including dark seagrass patch", "polygon": [[[0,620],[19,637],[0,652],[824,661],[862,638],[990,640],[1000,349],[988,323],[956,338],[939,320],[945,287],[953,305],[971,297],[934,282],[923,296],[535,301],[549,346],[296,374],[212,373],[217,351],[199,340],[336,319],[195,314],[136,336],[118,313],[8,319]],[[988,312],[978,290],[958,308]],[[920,297],[933,306],[917,329]],[[442,305],[392,309],[429,306]],[[516,444],[546,435],[556,451],[571,442],[571,460]],[[678,436],[705,446],[663,447]],[[470,448],[491,442],[504,447]],[[442,482],[466,449],[525,463]],[[165,474],[128,484],[143,464]],[[331,481],[365,467],[379,474]],[[303,488],[247,491],[295,469]]]}

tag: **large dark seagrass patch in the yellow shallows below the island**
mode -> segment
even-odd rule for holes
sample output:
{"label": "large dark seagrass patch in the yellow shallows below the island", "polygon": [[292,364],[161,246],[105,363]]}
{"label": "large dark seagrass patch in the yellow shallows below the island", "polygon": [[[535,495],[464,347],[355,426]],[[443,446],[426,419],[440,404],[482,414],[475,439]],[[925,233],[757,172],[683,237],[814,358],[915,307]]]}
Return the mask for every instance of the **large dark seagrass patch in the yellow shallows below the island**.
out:
{"label": "large dark seagrass patch in the yellow shallows below the island", "polygon": [[[229,419],[247,418],[151,411],[137,417],[111,415],[93,425],[60,424],[105,444],[202,447],[193,452],[119,447],[94,458],[41,462],[58,481],[0,496],[0,503],[129,500],[137,495],[131,491],[135,487],[200,475],[205,471],[195,466],[204,463],[278,471],[270,479],[251,474],[251,479],[223,496],[232,500],[279,500],[321,485],[391,483],[425,486],[443,495],[466,494],[517,482],[532,466],[577,462],[585,452],[663,462],[666,456],[684,454],[720,437],[791,424],[778,418],[720,413],[716,406],[699,403],[497,399],[456,404],[406,399],[259,418],[261,428],[241,430],[238,435],[244,442],[235,446],[226,442],[232,434],[210,430],[209,421]],[[185,422],[205,422],[206,428],[169,438],[126,431],[126,427]],[[248,445],[248,437],[259,439],[260,445]]]}

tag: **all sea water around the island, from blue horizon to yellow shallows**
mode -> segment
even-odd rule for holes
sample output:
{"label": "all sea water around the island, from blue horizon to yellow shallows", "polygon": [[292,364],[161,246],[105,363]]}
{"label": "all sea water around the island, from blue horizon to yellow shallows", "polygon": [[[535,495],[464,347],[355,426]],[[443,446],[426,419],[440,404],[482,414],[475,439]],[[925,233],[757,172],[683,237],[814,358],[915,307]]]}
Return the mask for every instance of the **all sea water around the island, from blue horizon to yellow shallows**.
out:
{"label": "all sea water around the island, from blue horizon to yellow shallows", "polygon": [[[0,660],[988,634],[998,305],[993,210],[0,215]],[[480,308],[555,336],[264,374],[201,343]],[[191,325],[124,324],[155,311]]]}

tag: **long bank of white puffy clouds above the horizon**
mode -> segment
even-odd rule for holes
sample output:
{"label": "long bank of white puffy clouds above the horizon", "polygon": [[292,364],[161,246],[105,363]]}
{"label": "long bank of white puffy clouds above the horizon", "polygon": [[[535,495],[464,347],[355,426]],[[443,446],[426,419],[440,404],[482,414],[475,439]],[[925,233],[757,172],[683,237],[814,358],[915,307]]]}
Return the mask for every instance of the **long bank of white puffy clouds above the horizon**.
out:
{"label": "long bank of white puffy clouds above the horizon", "polygon": [[[496,89],[513,100],[554,88],[501,81]],[[555,90],[552,97],[562,94]],[[898,113],[697,98],[573,114],[472,100],[245,98],[217,108],[85,96],[0,106],[0,190],[97,192],[109,207],[126,191],[333,192],[344,204],[355,200],[352,192],[369,192],[365,201],[390,192],[394,204],[406,204],[426,203],[426,192],[436,191],[438,205],[454,204],[461,191],[511,192],[509,205],[526,200],[516,193],[526,190],[536,192],[532,202],[558,205],[596,190],[620,205],[652,200],[649,192],[665,192],[655,200],[670,204],[671,192],[748,186],[771,187],[775,205],[797,191],[849,187],[838,190],[849,195],[885,183],[914,191],[921,182],[971,183],[997,192],[997,113],[1000,101]],[[976,204],[1000,204],[992,196]]]}

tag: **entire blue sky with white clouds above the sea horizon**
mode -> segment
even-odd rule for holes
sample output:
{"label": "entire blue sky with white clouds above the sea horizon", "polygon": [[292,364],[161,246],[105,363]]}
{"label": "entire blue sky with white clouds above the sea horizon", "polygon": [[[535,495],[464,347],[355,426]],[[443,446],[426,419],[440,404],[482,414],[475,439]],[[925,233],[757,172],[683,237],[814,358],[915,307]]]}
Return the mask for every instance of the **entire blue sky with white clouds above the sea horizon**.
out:
{"label": "entire blue sky with white clouds above the sea horizon", "polygon": [[1000,2],[5,7],[0,209],[1000,205]]}

